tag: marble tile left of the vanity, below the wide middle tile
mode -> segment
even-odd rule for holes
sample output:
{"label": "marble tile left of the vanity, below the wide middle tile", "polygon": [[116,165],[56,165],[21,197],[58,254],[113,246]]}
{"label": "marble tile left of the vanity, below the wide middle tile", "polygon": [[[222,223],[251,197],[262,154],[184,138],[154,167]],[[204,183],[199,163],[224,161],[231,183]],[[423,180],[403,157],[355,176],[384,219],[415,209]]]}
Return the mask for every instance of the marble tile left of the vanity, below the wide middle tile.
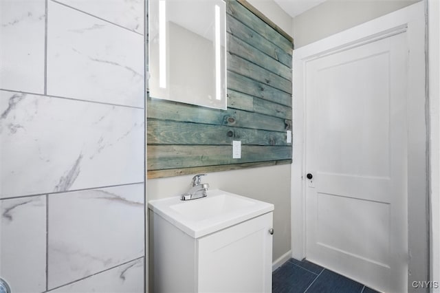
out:
{"label": "marble tile left of the vanity, below the wide middle tile", "polygon": [[49,288],[144,256],[144,184],[49,195],[48,239]]}

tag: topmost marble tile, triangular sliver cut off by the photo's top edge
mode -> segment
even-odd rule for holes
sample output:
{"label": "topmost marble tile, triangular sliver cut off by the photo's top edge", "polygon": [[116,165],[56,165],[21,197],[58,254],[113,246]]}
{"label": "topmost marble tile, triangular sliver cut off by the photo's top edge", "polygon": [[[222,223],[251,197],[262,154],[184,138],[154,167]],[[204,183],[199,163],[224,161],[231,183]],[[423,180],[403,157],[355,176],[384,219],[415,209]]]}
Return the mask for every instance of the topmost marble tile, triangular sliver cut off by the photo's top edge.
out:
{"label": "topmost marble tile, triangular sliver cut off by the photo's top edge", "polygon": [[144,0],[57,0],[111,23],[144,34]]}

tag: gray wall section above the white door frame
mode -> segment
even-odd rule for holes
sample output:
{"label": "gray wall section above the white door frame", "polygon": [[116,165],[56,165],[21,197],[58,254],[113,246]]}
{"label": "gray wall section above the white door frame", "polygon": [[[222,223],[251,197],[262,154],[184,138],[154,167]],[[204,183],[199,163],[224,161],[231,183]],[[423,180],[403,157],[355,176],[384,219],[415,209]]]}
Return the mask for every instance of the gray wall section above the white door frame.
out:
{"label": "gray wall section above the white door frame", "polygon": [[418,1],[421,0],[327,0],[294,17],[294,45],[303,47]]}

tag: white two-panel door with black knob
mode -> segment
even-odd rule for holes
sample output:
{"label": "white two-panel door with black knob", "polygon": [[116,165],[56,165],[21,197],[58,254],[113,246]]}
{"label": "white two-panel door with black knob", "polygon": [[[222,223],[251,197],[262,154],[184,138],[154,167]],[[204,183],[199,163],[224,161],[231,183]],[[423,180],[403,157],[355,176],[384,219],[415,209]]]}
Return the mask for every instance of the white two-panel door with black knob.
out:
{"label": "white two-panel door with black knob", "polygon": [[306,256],[376,290],[408,268],[406,32],[305,67]]}

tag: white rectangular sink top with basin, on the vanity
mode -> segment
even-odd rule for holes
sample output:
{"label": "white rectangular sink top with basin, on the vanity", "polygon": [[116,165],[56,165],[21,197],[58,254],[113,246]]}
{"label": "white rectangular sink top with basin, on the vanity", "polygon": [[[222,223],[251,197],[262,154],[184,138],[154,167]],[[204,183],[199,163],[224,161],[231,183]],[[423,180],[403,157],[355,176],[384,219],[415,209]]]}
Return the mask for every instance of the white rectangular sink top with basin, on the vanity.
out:
{"label": "white rectangular sink top with basin, on the vanity", "polygon": [[191,237],[199,238],[269,213],[274,205],[217,189],[208,191],[208,196],[200,199],[151,200],[148,208]]}

